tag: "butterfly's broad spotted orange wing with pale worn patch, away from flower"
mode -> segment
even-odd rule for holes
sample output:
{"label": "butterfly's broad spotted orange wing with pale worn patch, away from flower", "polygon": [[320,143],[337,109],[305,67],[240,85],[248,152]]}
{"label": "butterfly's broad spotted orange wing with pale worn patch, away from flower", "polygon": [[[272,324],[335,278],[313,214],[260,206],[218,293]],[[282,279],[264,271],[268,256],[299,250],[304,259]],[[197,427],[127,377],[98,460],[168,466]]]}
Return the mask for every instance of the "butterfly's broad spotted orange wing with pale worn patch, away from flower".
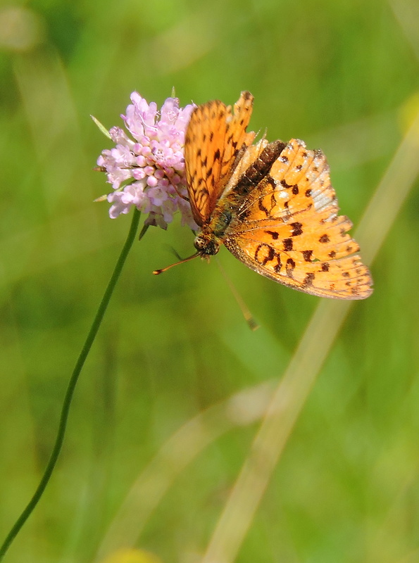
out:
{"label": "butterfly's broad spotted orange wing with pale worn patch, away from flower", "polygon": [[[265,146],[267,141],[249,147],[243,160],[249,163]],[[234,193],[239,182],[234,174],[226,191]],[[244,197],[223,242],[252,270],[286,286],[363,299],[373,291],[372,279],[347,233],[351,221],[338,210],[325,156],[292,139]]]}

